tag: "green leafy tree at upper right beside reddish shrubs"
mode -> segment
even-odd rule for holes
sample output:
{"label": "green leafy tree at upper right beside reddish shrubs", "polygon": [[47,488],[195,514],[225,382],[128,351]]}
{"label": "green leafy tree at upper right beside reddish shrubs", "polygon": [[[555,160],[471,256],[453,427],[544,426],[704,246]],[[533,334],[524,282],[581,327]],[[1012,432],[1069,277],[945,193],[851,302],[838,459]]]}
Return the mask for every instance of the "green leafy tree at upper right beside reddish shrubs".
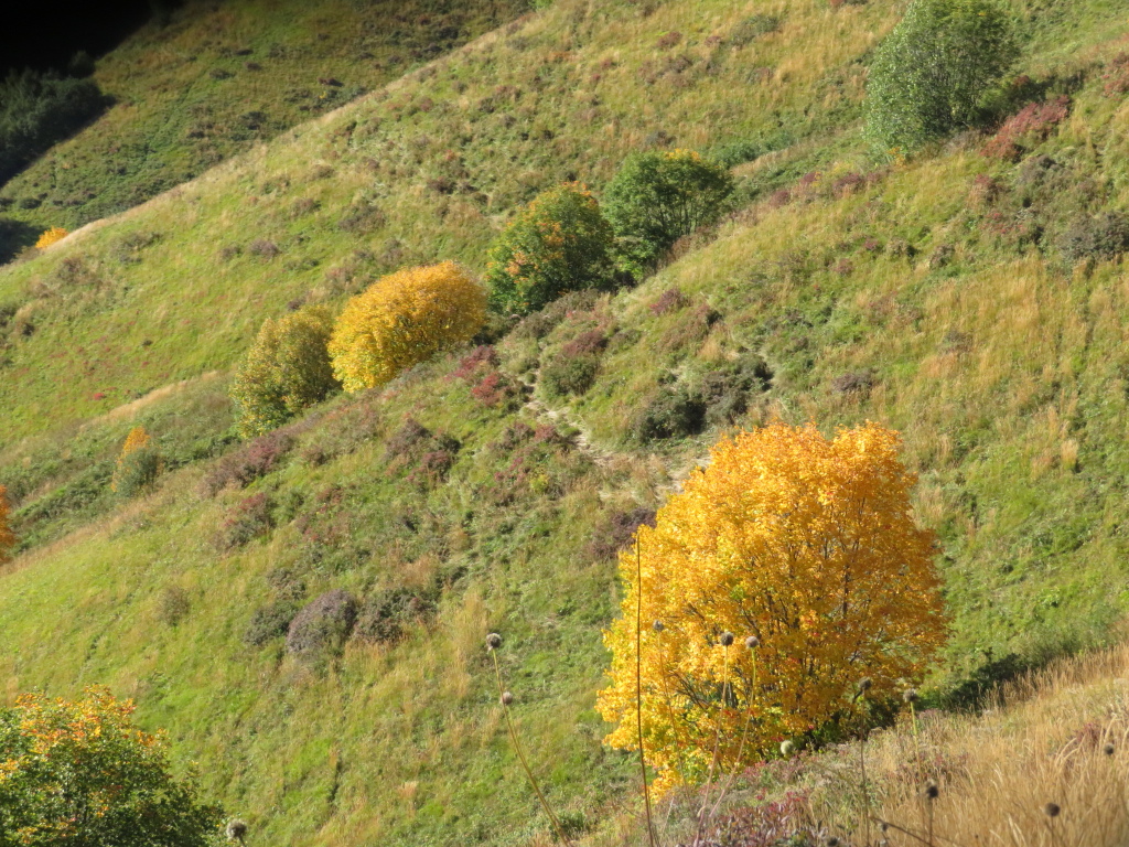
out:
{"label": "green leafy tree at upper right beside reddish shrubs", "polygon": [[1017,55],[991,0],[914,0],[870,67],[867,136],[900,154],[974,123]]}

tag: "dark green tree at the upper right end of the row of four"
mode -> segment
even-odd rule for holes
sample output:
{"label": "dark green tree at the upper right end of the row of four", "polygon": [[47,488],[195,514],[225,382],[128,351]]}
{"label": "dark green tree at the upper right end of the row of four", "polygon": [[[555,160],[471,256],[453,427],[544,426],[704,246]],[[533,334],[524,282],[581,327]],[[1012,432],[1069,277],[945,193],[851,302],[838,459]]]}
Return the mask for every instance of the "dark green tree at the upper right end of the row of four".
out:
{"label": "dark green tree at the upper right end of the row of four", "polygon": [[716,221],[732,193],[729,172],[692,150],[628,157],[604,192],[625,269],[640,276],[679,238]]}

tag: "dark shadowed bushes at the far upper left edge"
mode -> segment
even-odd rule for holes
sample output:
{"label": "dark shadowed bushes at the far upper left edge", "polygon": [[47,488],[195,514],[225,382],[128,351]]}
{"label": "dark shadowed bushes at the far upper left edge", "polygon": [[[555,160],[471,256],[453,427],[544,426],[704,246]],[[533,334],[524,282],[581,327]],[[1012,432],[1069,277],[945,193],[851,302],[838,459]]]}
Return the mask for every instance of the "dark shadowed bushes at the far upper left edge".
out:
{"label": "dark shadowed bushes at the far upper left edge", "polygon": [[0,82],[0,182],[80,129],[108,103],[89,79],[10,71]]}

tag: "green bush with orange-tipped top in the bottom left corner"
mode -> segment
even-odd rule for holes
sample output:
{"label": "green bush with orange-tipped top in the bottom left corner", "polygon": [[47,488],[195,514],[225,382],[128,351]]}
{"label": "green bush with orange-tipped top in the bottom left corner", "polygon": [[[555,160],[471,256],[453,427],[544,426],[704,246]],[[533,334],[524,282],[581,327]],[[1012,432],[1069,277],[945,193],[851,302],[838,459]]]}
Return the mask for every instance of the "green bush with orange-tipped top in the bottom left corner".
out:
{"label": "green bush with orange-tipped top in the bottom left corner", "polygon": [[28,847],[203,847],[221,810],[173,777],[168,741],[105,689],[0,709],[0,839]]}

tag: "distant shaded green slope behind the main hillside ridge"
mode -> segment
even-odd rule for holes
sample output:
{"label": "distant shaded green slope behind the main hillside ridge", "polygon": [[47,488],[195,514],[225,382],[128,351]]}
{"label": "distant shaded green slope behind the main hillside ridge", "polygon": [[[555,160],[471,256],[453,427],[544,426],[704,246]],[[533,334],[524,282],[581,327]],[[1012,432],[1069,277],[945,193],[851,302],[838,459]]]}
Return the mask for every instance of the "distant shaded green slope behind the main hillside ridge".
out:
{"label": "distant shaded green slope behind the main hillside ridge", "polygon": [[124,211],[526,8],[190,0],[98,62],[114,105],[5,184],[0,212],[36,233]]}

